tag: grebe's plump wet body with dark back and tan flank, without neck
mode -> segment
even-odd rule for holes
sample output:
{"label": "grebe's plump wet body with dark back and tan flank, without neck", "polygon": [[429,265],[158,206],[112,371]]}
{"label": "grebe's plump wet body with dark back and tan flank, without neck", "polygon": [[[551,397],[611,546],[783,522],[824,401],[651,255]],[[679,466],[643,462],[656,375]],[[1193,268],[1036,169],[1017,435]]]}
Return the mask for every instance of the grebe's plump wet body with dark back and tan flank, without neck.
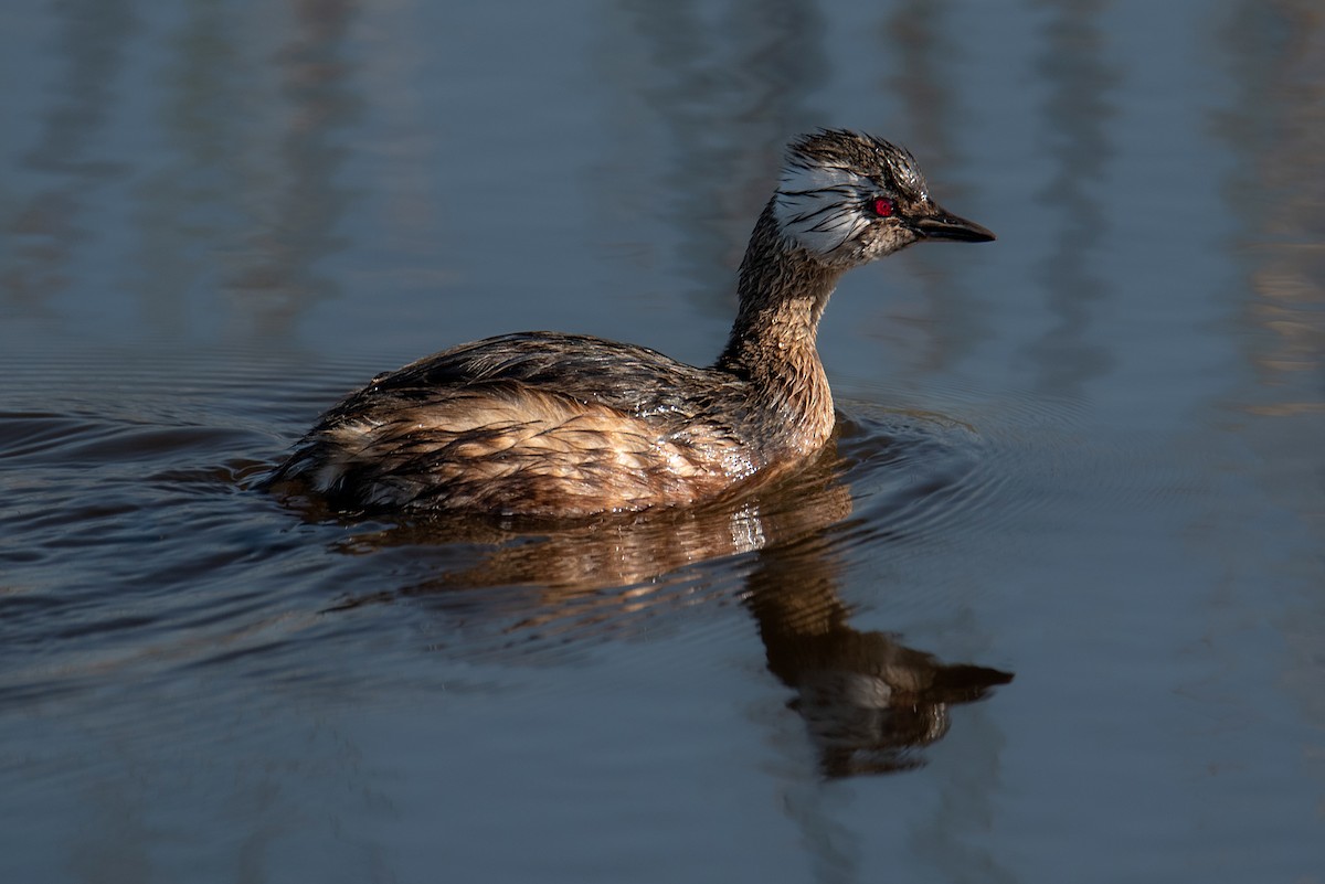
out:
{"label": "grebe's plump wet body with dark back and tan flank, without neck", "polygon": [[583,335],[504,335],[375,377],[273,483],[356,508],[586,515],[690,503],[762,463],[745,384]]}

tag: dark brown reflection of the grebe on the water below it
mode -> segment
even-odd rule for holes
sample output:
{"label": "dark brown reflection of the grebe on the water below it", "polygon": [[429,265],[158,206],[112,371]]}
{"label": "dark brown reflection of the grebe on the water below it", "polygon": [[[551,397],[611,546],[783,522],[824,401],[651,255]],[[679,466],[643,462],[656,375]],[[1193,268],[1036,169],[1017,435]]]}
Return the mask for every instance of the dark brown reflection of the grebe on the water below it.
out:
{"label": "dark brown reflection of the grebe on the water below it", "polygon": [[[898,426],[914,422],[908,416]],[[684,607],[739,599],[758,625],[770,672],[795,692],[788,705],[804,720],[820,774],[910,770],[925,764],[924,748],[947,733],[953,704],[980,700],[1012,680],[994,668],[946,664],[897,635],[857,630],[840,596],[851,544],[904,543],[912,525],[926,524],[917,523],[917,507],[946,507],[966,482],[959,470],[946,478],[935,470],[929,480],[912,475],[909,491],[898,492],[905,506],[893,507],[909,511],[898,525],[865,525],[853,515],[852,478],[913,471],[934,453],[922,442],[926,431],[933,427],[886,438],[848,423],[851,438],[803,468],[706,507],[560,525],[378,523],[334,548],[404,552],[412,561],[427,557],[435,570],[400,589],[347,596],[329,613],[403,599],[457,622],[497,610],[504,626],[490,656],[510,660],[549,646],[629,637],[641,622]],[[311,502],[290,503],[310,520],[355,524]],[[489,656],[474,646],[457,652]]]}

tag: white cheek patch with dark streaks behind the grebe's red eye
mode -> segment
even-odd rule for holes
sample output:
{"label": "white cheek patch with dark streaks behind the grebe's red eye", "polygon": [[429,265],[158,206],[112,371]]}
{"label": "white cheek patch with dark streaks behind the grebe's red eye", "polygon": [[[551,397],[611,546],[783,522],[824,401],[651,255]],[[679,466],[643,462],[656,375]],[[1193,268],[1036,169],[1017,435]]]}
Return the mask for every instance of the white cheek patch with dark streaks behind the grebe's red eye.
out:
{"label": "white cheek patch with dark streaks behind the grebe's red eye", "polygon": [[824,165],[788,165],[778,187],[778,226],[800,246],[828,254],[869,224],[861,212],[873,185],[855,172]]}

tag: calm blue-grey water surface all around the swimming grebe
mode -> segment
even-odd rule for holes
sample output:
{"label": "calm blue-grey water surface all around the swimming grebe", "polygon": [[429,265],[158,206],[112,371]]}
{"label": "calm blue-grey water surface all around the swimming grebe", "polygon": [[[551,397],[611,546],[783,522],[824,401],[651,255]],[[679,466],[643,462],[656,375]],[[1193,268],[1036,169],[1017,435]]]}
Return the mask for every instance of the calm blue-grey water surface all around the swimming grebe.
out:
{"label": "calm blue-grey water surface all around the swimming grebe", "polygon": [[[844,281],[790,487],[249,488],[454,343],[710,360],[816,126],[999,241]],[[1309,0],[5,4],[0,880],[1325,881],[1322,351]]]}

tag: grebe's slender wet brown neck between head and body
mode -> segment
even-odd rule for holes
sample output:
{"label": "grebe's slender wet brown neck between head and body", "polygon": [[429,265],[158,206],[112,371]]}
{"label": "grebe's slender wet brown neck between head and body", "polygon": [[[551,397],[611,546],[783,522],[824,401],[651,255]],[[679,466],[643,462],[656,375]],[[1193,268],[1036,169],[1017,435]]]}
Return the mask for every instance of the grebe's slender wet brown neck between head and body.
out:
{"label": "grebe's slender wet brown neck between head and body", "polygon": [[778,412],[815,449],[832,431],[832,393],[819,361],[819,318],[840,270],[825,267],[779,233],[772,202],[741,262],[739,310],[717,367],[751,384],[757,406]]}

